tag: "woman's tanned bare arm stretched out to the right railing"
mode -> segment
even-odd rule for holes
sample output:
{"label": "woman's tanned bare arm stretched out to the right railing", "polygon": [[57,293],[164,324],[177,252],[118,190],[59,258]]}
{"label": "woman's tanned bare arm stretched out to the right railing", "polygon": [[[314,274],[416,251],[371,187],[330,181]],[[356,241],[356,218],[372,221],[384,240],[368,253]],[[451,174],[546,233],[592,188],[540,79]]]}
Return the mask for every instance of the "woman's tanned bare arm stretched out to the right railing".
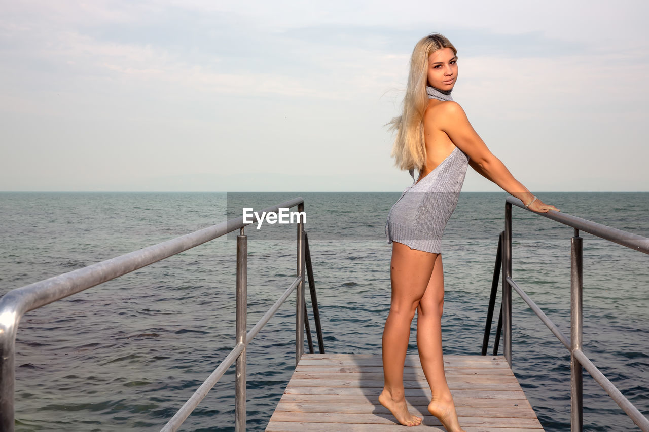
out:
{"label": "woman's tanned bare arm stretched out to the right railing", "polygon": [[[509,173],[500,159],[489,151],[457,102],[444,102],[439,108],[441,109],[435,113],[437,125],[460,150],[469,156],[473,169],[500,186],[509,195],[519,198],[524,204],[533,200],[534,195]],[[528,208],[544,213],[548,210],[559,211],[555,206],[544,204],[539,199]]]}

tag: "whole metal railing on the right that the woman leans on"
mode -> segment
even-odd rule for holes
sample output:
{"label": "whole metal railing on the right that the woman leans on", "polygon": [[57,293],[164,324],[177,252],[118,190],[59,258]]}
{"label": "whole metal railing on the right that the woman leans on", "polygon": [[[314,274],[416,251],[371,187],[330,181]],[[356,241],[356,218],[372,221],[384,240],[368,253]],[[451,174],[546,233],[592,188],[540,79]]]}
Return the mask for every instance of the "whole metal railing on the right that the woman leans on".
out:
{"label": "whole metal railing on the right that the woman leans on", "polygon": [[570,339],[568,339],[557,326],[548,318],[537,304],[519,287],[511,278],[511,205],[514,204],[520,208],[525,208],[522,202],[514,197],[507,197],[505,203],[505,230],[500,233],[498,238],[498,252],[496,254],[496,265],[491,285],[491,296],[489,297],[489,307],[487,310],[487,322],[485,324],[485,334],[482,342],[482,355],[487,354],[487,343],[489,342],[489,333],[493,318],[493,309],[496,301],[496,292],[498,291],[498,280],[500,279],[500,269],[502,267],[502,304],[500,306],[500,316],[498,318],[498,328],[496,330],[496,339],[493,348],[493,354],[498,353],[500,344],[500,331],[503,332],[503,353],[509,366],[511,367],[511,288],[513,287],[520,297],[530,306],[530,308],[541,318],[541,321],[552,331],[559,341],[570,351],[570,430],[572,432],[583,431],[583,405],[582,405],[582,366],[591,374],[604,390],[613,398],[613,400],[622,408],[622,410],[640,427],[643,432],[649,432],[649,419],[646,418],[622,393],[609,381],[609,379],[600,372],[582,350],[582,237],[579,236],[579,230],[593,234],[596,237],[606,239],[626,246],[639,252],[649,254],[649,238],[642,235],[631,234],[630,232],[611,228],[603,224],[598,224],[587,219],[582,219],[567,213],[550,210],[547,213],[535,213],[545,216],[553,221],[572,226],[574,228],[574,237],[570,239]]}

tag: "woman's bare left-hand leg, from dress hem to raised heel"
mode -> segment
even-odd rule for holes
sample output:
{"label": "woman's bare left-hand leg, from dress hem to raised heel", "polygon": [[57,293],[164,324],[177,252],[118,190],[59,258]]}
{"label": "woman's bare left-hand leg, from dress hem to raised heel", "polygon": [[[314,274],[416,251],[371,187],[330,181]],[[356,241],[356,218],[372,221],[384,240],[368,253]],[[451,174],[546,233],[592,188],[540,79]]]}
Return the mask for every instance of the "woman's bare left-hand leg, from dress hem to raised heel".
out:
{"label": "woman's bare left-hand leg, from dress hem to raised heel", "polygon": [[414,250],[393,242],[390,279],[390,313],[383,331],[384,388],[378,401],[390,410],[400,424],[417,426],[422,418],[408,413],[404,395],[404,362],[410,338],[410,324],[415,317],[430,281],[436,254]]}

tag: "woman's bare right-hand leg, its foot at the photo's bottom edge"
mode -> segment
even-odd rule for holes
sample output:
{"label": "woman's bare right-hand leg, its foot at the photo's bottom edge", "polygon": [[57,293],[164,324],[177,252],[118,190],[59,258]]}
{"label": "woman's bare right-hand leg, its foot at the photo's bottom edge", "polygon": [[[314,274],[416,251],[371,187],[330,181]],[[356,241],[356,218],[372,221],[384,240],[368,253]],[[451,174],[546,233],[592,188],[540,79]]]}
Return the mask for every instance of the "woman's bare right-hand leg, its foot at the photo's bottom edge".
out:
{"label": "woman's bare right-hand leg, its foot at the photo's bottom edge", "polygon": [[433,393],[428,411],[439,418],[448,432],[463,432],[459,427],[453,397],[448,389],[442,355],[441,318],[444,309],[444,270],[437,254],[430,281],[417,307],[417,350]]}

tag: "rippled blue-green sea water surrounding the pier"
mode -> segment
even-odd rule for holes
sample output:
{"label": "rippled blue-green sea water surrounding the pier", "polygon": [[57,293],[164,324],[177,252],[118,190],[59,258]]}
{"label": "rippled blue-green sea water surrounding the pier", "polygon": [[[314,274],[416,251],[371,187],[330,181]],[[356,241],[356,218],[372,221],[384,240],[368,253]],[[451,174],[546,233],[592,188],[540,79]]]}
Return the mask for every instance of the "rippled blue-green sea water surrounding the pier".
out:
{"label": "rippled blue-green sea water surrounding the pier", "polygon": [[[0,193],[0,294],[225,221],[228,212],[238,215],[241,203],[263,208],[301,196],[327,352],[380,353],[390,299],[384,227],[399,195]],[[649,193],[538,195],[564,213],[649,237]],[[480,354],[506,196],[461,193],[448,222],[445,354]],[[251,328],[295,278],[295,227],[246,233]],[[566,335],[573,233],[513,208],[513,278]],[[649,257],[581,235],[584,351],[649,414]],[[16,342],[16,429],[164,426],[234,346],[235,251],[232,236],[222,237],[27,313]],[[513,372],[545,429],[569,430],[569,352],[512,295]],[[263,431],[293,372],[294,299],[248,348],[250,431]],[[497,313],[496,307],[496,320]],[[416,318],[411,354],[415,326]],[[493,340],[492,334],[489,353]],[[585,430],[638,430],[587,372],[583,376]],[[182,430],[234,431],[234,366]]]}

